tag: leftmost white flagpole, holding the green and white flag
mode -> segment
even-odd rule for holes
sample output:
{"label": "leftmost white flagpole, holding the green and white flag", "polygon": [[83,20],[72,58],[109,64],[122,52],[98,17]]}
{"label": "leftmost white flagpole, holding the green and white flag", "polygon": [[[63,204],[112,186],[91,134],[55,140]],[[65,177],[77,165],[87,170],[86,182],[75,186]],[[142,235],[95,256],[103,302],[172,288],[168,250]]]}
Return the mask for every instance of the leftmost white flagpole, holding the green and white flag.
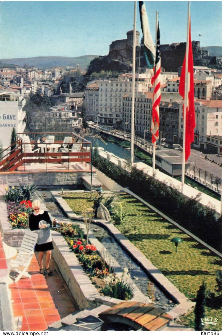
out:
{"label": "leftmost white flagpole, holding the green and white flag", "polygon": [[132,78],[132,107],[131,107],[131,164],[134,163],[134,111],[135,111],[135,69],[136,69],[136,1],[134,1],[133,24],[133,78]]}

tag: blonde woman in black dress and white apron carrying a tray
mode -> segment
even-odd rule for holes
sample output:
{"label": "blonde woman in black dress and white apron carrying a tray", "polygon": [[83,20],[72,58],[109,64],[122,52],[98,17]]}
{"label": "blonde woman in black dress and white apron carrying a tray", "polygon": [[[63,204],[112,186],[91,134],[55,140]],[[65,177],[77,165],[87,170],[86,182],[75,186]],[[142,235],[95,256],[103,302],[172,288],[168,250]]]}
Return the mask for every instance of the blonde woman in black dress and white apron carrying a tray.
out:
{"label": "blonde woman in black dress and white apron carrying a tray", "polygon": [[[34,210],[33,213],[29,216],[29,228],[31,231],[38,230],[39,238],[35,245],[35,251],[39,252],[39,266],[40,266],[40,274],[44,275],[44,267],[43,267],[43,256],[46,252],[46,273],[51,276],[53,275],[52,271],[49,268],[53,242],[52,235],[50,229],[47,229],[47,223],[52,224],[52,220],[49,216],[48,211],[41,210],[41,203],[39,200],[34,200],[32,202],[32,208]],[[41,221],[45,221],[46,223],[41,223]]]}

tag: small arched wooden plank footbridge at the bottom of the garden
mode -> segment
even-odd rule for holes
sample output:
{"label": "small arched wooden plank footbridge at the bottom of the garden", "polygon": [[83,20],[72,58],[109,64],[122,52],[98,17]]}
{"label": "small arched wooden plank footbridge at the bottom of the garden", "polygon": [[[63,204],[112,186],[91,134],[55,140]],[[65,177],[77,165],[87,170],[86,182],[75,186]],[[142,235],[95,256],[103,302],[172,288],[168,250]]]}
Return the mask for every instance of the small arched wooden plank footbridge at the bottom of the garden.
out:
{"label": "small arched wooden plank footbridge at the bottom of the garden", "polygon": [[135,330],[160,330],[173,318],[144,302],[125,301],[108,308],[99,314],[105,323],[123,323]]}

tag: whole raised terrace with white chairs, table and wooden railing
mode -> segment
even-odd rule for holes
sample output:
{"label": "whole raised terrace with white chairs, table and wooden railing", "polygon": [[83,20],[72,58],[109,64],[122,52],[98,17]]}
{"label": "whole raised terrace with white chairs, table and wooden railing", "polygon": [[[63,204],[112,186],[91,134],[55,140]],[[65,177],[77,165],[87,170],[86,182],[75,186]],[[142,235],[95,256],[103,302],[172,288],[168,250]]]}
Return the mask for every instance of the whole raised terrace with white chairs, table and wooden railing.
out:
{"label": "whole raised terrace with white chairs, table and wooden railing", "polygon": [[[55,137],[55,141],[40,143],[43,135]],[[74,138],[78,142],[72,142]],[[74,132],[18,133],[14,148],[9,146],[0,155],[0,174],[91,169],[91,142]]]}

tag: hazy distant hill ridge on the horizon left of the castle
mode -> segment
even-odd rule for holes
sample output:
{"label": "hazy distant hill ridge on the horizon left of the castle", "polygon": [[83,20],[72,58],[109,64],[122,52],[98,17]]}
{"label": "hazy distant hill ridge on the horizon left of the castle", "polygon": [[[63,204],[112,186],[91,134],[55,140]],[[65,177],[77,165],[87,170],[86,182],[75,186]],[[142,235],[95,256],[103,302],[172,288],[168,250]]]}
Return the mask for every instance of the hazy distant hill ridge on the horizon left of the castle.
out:
{"label": "hazy distant hill ridge on the horizon left of the castle", "polygon": [[23,67],[25,64],[38,69],[51,69],[54,67],[77,67],[86,70],[92,59],[97,55],[85,55],[79,57],[60,57],[60,56],[40,56],[27,58],[2,58],[1,63],[16,64]]}

